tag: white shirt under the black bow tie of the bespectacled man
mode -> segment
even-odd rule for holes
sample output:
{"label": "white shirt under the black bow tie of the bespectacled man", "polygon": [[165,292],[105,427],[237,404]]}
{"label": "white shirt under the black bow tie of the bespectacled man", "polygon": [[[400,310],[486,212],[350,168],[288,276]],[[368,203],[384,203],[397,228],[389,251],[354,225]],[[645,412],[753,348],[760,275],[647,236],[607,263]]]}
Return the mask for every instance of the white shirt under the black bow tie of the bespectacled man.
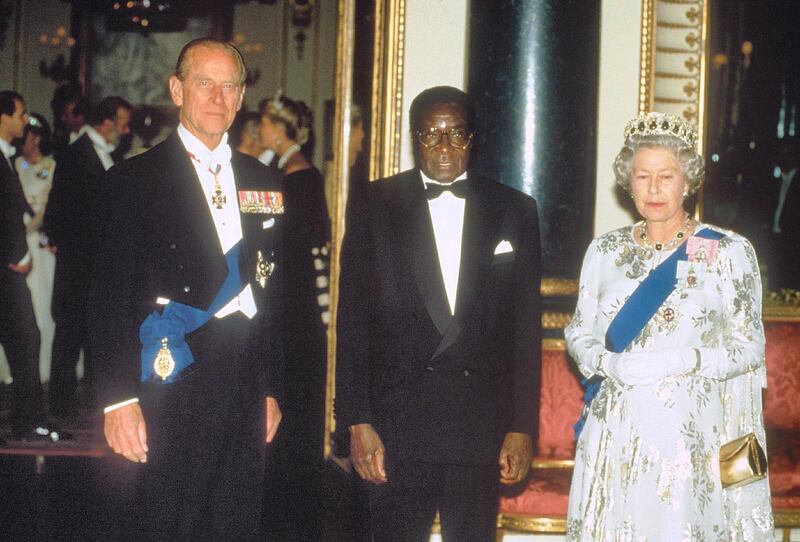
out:
{"label": "white shirt under the black bow tie of the bespectacled man", "polygon": [[[422,171],[420,171],[420,174],[425,183],[445,184],[428,178]],[[463,173],[456,181],[466,178],[467,174]],[[436,237],[436,251],[439,253],[439,266],[442,271],[442,280],[444,280],[444,289],[447,292],[447,301],[450,304],[451,314],[456,312],[465,204],[465,199],[458,198],[452,192],[447,191],[442,192],[442,195],[438,198],[428,200],[433,234]]]}

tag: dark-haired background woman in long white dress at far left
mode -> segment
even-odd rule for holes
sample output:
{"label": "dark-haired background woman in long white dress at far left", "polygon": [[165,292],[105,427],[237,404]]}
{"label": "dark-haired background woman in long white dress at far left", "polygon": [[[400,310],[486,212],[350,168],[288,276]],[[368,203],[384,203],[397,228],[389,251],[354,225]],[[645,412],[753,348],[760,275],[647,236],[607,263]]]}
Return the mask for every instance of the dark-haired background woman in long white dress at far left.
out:
{"label": "dark-haired background woman in long white dress at far left", "polygon": [[50,378],[50,356],[53,346],[55,324],[50,313],[50,301],[53,297],[53,273],[55,271],[55,255],[43,248],[46,240],[40,231],[47,196],[53,185],[53,173],[56,162],[50,153],[50,128],[44,117],[31,113],[25,133],[22,137],[20,156],[14,160],[14,166],[22,183],[22,190],[35,215],[25,215],[28,231],[28,250],[33,258],[33,268],[28,274],[28,288],[31,290],[33,311],[36,323],[41,332],[41,348],[39,351],[39,372],[43,381]]}

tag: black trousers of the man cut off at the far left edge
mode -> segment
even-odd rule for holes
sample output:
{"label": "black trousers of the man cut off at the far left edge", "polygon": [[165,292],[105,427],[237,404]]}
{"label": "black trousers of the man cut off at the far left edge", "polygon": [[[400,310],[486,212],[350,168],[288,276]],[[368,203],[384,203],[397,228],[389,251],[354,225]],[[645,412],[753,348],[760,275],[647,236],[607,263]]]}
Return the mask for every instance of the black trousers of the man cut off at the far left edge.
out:
{"label": "black trousers of the man cut off at the far left edge", "polygon": [[25,275],[0,270],[0,344],[6,352],[11,385],[11,430],[27,431],[44,420],[39,380],[39,328]]}

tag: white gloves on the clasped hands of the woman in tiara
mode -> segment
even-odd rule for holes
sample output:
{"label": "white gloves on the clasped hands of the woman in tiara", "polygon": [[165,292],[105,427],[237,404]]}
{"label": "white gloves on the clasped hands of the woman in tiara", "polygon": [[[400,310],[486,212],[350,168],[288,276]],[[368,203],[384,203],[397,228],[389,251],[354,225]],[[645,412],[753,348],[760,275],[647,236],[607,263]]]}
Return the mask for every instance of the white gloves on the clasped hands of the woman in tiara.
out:
{"label": "white gloves on the clasped hands of the woman in tiara", "polygon": [[602,364],[602,370],[610,378],[628,386],[651,386],[699,368],[700,354],[695,348],[609,353]]}

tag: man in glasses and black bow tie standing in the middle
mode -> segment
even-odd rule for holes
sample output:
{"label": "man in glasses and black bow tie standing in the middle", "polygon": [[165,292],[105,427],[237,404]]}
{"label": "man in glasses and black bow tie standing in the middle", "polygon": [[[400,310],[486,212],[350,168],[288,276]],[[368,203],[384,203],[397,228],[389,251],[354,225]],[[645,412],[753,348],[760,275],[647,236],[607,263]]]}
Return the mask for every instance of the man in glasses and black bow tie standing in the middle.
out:
{"label": "man in glasses and black bow tie standing in the middle", "polygon": [[410,109],[417,167],[350,210],[340,278],[337,423],[370,482],[375,540],[492,541],[500,482],[537,432],[535,201],[468,173],[472,104],[452,87]]}

